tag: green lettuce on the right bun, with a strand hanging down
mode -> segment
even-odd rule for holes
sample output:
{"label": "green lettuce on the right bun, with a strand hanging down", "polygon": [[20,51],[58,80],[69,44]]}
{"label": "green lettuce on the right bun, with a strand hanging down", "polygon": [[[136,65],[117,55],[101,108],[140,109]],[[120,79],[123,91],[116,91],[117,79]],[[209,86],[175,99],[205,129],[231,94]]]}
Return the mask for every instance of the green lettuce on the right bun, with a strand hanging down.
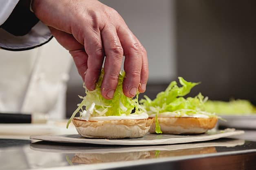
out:
{"label": "green lettuce on the right bun, with a strand hanging down", "polygon": [[182,87],[179,87],[176,81],[172,81],[164,92],[157,94],[157,97],[154,100],[151,100],[148,96],[144,96],[145,99],[140,100],[140,103],[149,115],[155,114],[156,133],[161,133],[157,121],[158,114],[172,112],[175,117],[182,117],[184,115],[192,116],[200,113],[207,115],[208,117],[215,117],[214,113],[205,112],[204,103],[207,101],[207,97],[204,97],[201,93],[194,98],[184,98],[184,96],[189,94],[190,90],[199,83],[185,81],[182,77],[178,78]]}

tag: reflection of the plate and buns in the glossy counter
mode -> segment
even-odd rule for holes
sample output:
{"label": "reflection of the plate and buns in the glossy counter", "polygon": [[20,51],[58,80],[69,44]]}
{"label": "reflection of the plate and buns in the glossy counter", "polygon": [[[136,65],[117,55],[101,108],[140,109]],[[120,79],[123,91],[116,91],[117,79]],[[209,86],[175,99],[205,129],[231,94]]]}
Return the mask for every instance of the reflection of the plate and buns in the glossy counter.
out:
{"label": "reflection of the plate and buns in the glossy counter", "polygon": [[[133,161],[141,159],[155,159],[182,157],[217,153],[216,147],[241,146],[245,140],[219,139],[212,142],[197,142],[188,144],[173,144],[159,146],[109,146],[109,145],[79,145],[53,144],[49,142],[35,142],[30,145],[32,150],[46,153],[62,153],[70,165],[108,163],[118,161]],[[73,155],[72,155],[72,154]]]}

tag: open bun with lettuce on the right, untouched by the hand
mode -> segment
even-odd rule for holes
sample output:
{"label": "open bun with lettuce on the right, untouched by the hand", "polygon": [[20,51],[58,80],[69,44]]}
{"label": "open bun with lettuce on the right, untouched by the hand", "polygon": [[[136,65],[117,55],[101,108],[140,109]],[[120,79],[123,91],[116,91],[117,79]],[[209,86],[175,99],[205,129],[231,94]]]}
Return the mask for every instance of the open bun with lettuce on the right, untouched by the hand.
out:
{"label": "open bun with lettuce on the right, untouched by the hand", "polygon": [[179,77],[179,82],[182,87],[172,81],[154,100],[147,96],[140,100],[149,117],[154,118],[150,133],[196,134],[214,128],[218,116],[204,111],[207,97],[199,93],[194,98],[184,98],[199,83],[185,81],[182,77]]}

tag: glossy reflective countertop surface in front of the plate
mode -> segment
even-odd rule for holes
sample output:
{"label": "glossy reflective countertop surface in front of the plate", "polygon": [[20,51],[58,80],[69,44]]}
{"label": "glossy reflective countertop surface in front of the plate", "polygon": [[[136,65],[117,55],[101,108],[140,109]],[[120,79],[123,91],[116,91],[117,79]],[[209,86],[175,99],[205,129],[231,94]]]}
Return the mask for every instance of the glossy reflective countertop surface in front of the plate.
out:
{"label": "glossy reflective countertop surface in front of the plate", "polygon": [[237,151],[256,150],[256,142],[225,138],[208,142],[155,146],[70,144],[42,141],[29,144],[29,140],[15,139],[0,139],[0,143],[6,143],[0,147],[1,170],[63,167],[77,164],[99,166],[101,163],[120,161],[130,162],[133,165],[138,160],[151,163],[165,158],[168,161],[174,161],[195,159],[206,155],[218,156],[223,152],[226,154],[228,152],[230,155]]}

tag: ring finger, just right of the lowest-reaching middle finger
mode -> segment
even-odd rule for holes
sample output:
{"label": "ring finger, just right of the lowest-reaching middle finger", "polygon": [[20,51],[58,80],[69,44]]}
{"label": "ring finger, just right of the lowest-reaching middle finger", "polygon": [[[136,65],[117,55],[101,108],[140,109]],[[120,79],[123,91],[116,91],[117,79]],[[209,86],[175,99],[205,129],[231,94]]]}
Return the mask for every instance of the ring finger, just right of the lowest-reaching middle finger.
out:
{"label": "ring finger, just right of the lowest-reaching middle finger", "polygon": [[[128,27],[119,27],[117,30],[117,34],[121,41],[125,55],[124,71],[126,72],[126,78],[124,79],[123,83],[123,92],[128,97],[134,97],[141,80],[141,44],[128,29]],[[143,81],[145,81],[145,79],[146,78],[143,78]]]}

